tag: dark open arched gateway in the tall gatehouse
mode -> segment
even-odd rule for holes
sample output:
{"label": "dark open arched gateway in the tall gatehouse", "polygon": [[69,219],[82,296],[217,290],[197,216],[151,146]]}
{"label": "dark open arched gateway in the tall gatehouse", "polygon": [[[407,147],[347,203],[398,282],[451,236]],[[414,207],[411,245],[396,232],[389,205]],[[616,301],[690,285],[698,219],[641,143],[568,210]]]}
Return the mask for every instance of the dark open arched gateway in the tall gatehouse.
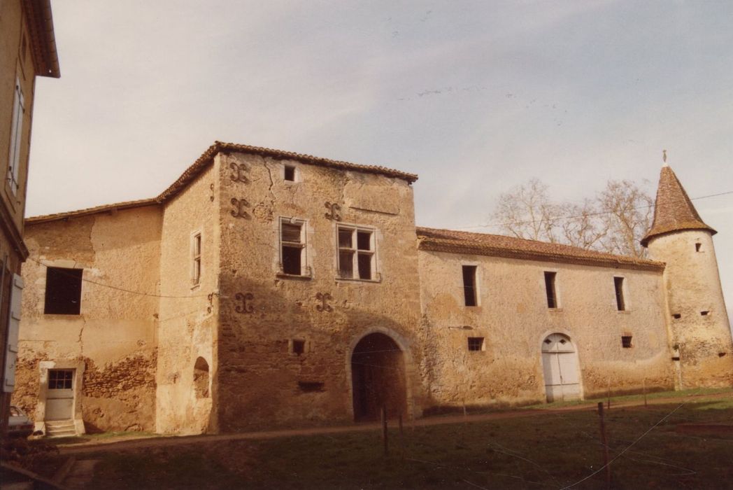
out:
{"label": "dark open arched gateway in the tall gatehouse", "polygon": [[405,414],[405,361],[388,335],[369,334],[351,354],[354,420],[377,420],[382,407],[388,417]]}

